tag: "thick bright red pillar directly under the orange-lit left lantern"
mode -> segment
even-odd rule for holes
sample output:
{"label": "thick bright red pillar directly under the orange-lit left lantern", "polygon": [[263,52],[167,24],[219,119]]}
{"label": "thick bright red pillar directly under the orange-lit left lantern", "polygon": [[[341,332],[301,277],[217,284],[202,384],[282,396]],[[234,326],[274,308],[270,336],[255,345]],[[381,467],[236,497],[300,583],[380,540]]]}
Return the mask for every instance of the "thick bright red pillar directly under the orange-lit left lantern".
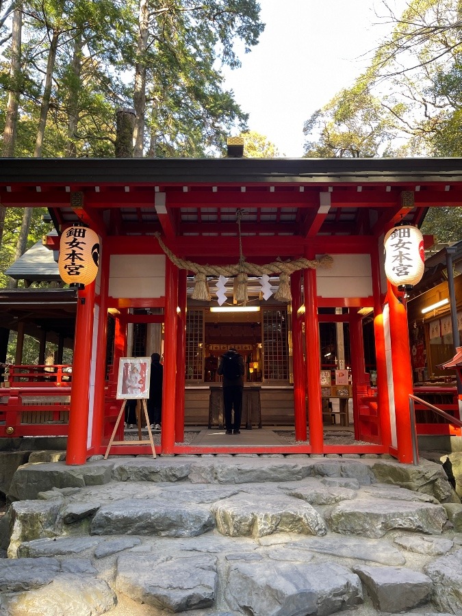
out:
{"label": "thick bright red pillar directly under the orange-lit left lantern", "polygon": [[88,393],[92,359],[94,282],[78,292],[75,342],[70,389],[69,431],[66,464],[85,464],[87,459]]}

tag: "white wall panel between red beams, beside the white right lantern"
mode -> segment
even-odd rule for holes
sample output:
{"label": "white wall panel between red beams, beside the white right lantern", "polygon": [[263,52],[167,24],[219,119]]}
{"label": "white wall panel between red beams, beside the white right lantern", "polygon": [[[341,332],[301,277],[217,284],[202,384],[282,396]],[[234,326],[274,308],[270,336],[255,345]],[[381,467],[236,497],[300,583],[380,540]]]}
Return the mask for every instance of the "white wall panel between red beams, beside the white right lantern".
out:
{"label": "white wall panel between red beams, beside the white right lantern", "polygon": [[[333,267],[318,268],[316,279],[318,296],[372,296],[372,268],[370,255],[332,255]],[[317,258],[319,258],[318,255]]]}

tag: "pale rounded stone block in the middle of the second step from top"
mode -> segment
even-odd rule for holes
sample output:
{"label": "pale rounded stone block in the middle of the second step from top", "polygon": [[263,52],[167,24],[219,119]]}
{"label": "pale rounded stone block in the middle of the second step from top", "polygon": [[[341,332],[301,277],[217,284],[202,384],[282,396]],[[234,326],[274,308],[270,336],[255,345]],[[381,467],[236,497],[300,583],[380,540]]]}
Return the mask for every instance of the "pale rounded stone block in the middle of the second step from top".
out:
{"label": "pale rounded stone block in the middle of the second step from top", "polygon": [[216,526],[229,537],[263,537],[273,532],[325,535],[324,520],[310,504],[273,496],[234,496],[212,506]]}

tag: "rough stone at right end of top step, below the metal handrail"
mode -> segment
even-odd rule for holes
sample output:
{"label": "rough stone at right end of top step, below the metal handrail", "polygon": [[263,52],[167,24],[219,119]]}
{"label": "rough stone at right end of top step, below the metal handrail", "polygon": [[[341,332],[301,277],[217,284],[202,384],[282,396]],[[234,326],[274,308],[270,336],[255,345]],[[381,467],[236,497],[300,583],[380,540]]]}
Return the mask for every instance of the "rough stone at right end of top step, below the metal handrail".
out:
{"label": "rough stone at right end of top step, below the metal handrail", "polygon": [[454,491],[441,464],[422,460],[418,466],[381,460],[372,466],[379,483],[400,485],[434,496],[439,502],[452,502]]}

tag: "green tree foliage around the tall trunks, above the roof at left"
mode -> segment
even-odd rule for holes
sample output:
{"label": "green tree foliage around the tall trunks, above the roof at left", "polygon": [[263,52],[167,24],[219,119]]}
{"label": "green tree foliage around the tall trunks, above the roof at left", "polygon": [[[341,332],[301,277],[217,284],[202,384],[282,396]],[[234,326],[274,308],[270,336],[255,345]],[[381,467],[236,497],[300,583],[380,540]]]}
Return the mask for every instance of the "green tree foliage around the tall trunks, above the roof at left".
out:
{"label": "green tree foliage around the tall trunks, above the roof at left", "polygon": [[[255,0],[152,3],[141,56],[133,0],[27,0],[24,7],[20,84],[10,83],[10,42],[0,36],[0,146],[8,90],[15,87],[21,92],[16,155],[34,152],[53,35],[58,47],[45,157],[114,155],[115,112],[133,106],[136,62],[146,67],[148,155],[210,155],[222,151],[229,133],[246,129],[248,116],[224,90],[220,63],[240,65],[236,40],[245,52],[257,44],[264,24]],[[1,16],[0,3],[0,23]],[[8,24],[3,25],[7,36]]]}

